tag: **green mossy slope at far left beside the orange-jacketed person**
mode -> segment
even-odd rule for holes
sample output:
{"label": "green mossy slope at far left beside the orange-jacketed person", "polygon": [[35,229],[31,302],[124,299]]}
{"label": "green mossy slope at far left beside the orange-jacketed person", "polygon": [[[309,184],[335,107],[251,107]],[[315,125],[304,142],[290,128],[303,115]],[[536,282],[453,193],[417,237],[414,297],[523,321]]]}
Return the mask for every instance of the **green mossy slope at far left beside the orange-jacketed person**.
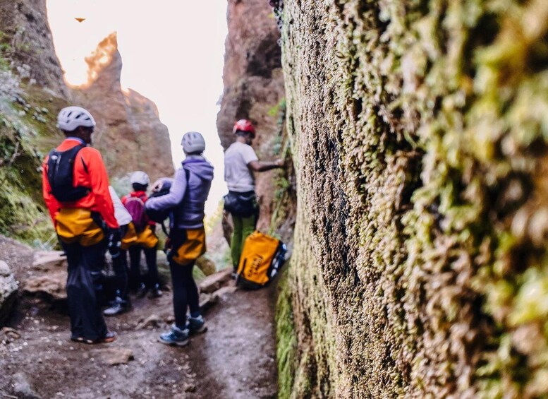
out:
{"label": "green mossy slope at far left beside the orange-jacketed person", "polygon": [[54,116],[65,102],[33,86],[21,89],[0,108],[0,233],[51,248],[57,242],[42,199],[42,160],[61,141]]}

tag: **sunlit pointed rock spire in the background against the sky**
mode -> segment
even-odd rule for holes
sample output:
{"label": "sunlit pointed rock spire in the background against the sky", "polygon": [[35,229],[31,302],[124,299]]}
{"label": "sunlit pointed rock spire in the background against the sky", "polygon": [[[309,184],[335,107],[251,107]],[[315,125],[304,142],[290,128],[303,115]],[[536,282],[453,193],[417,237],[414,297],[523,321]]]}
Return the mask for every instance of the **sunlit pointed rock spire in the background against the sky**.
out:
{"label": "sunlit pointed rock spire in the background against the sky", "polygon": [[159,120],[154,102],[120,85],[122,59],[116,34],[99,43],[89,66],[87,85],[73,90],[73,96],[97,120],[94,145],[104,155],[114,177],[145,170],[152,180],[171,176],[173,162],[167,127]]}

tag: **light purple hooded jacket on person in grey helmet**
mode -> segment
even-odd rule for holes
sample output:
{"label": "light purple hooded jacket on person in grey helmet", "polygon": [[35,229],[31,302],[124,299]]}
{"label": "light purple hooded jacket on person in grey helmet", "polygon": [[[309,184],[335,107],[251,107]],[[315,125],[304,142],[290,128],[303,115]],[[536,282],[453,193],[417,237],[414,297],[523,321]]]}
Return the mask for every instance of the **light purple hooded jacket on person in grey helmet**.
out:
{"label": "light purple hooded jacket on person in grey helmet", "polygon": [[172,227],[197,229],[204,225],[204,204],[213,180],[213,166],[200,155],[188,155],[181,165],[169,194],[149,198],[145,206],[152,210],[173,208]]}

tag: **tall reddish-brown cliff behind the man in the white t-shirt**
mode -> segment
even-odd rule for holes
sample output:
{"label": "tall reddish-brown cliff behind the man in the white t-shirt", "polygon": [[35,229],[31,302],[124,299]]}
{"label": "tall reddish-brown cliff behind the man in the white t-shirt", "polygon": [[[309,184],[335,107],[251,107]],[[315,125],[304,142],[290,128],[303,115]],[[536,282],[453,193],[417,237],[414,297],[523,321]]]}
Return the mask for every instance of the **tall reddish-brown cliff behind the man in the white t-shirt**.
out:
{"label": "tall reddish-brown cliff behind the man in the white t-shirt", "polygon": [[[224,93],[217,115],[217,131],[226,149],[233,143],[232,127],[238,119],[250,119],[257,131],[252,147],[261,160],[281,156],[280,102],[284,99],[279,30],[267,1],[229,0],[229,35],[225,42]],[[272,201],[279,172],[255,175],[260,196],[258,227],[270,225]]]}

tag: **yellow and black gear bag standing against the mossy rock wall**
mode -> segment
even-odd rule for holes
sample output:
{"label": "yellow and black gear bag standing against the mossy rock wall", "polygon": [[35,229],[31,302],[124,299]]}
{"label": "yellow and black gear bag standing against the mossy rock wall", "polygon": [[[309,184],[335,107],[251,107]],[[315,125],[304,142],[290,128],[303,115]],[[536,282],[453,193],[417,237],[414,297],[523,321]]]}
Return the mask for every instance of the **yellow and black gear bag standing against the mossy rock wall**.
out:
{"label": "yellow and black gear bag standing against the mossy rock wall", "polygon": [[267,285],[284,264],[286,244],[262,232],[252,232],[243,244],[236,284],[257,289]]}

